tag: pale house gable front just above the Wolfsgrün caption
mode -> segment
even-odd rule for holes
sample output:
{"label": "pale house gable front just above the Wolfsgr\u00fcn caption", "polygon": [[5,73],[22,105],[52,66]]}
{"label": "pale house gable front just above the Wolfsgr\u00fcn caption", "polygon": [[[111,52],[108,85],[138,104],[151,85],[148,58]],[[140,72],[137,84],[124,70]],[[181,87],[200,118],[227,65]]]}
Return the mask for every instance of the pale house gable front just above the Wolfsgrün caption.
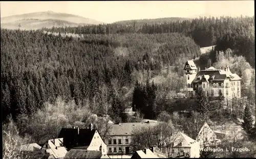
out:
{"label": "pale house gable front just above the Wolfsgr\u00fcn caption", "polygon": [[198,132],[197,141],[200,144],[200,147],[214,145],[217,140],[217,135],[206,122],[204,122],[203,126]]}

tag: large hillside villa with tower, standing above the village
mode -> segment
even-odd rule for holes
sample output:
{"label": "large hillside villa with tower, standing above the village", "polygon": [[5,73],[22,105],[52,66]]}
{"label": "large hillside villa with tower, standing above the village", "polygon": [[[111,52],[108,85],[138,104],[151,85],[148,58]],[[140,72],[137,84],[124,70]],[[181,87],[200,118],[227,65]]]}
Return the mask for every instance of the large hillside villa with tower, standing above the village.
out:
{"label": "large hillside villa with tower, standing above the village", "polygon": [[222,95],[225,101],[234,97],[241,98],[241,78],[231,73],[229,67],[205,68],[197,71],[197,66],[193,60],[185,63],[184,69],[186,74],[187,91],[190,96],[195,95],[195,91],[202,88],[207,97],[220,97]]}

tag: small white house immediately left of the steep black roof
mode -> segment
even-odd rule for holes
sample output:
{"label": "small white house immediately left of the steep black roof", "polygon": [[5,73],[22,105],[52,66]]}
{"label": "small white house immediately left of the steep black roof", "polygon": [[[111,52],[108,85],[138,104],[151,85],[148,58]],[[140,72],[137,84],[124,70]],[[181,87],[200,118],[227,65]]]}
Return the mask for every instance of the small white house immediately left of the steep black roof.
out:
{"label": "small white house immediately left of the steep black roof", "polygon": [[44,146],[42,146],[41,150],[49,153],[50,158],[63,158],[68,152],[65,147],[63,147],[63,138],[59,139],[51,139]]}

